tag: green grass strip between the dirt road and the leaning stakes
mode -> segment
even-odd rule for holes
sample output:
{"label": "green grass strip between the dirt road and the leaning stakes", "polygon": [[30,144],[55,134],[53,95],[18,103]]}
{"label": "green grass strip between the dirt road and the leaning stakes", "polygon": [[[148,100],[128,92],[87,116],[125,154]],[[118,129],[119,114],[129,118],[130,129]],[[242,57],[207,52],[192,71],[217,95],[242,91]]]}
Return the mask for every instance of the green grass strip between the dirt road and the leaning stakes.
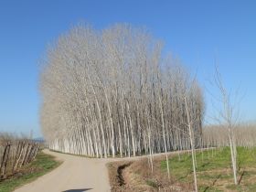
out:
{"label": "green grass strip between the dirt road and the leaning stakes", "polygon": [[43,176],[61,163],[56,161],[52,155],[46,155],[42,152],[37,154],[36,159],[29,165],[22,168],[21,176],[13,176],[0,182],[0,192],[13,191],[17,187],[21,187],[39,176]]}

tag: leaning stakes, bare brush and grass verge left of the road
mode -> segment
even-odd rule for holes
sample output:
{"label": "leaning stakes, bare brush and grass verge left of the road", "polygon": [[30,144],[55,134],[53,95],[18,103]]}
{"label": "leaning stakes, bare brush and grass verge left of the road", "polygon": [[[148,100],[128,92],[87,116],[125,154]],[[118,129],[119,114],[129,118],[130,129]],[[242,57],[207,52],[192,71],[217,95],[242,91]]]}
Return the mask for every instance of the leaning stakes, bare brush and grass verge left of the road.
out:
{"label": "leaning stakes, bare brush and grass verge left of the road", "polygon": [[43,144],[31,138],[0,133],[0,192],[13,191],[59,165],[42,153]]}

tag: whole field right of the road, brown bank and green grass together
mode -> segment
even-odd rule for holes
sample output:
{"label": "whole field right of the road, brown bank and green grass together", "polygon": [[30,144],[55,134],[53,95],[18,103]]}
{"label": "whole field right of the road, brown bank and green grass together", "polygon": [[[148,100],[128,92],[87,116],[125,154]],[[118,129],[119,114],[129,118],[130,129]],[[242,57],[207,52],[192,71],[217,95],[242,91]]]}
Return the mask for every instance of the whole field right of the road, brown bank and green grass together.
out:
{"label": "whole field right of the road, brown bank and green grass together", "polygon": [[[153,174],[147,158],[110,164],[112,191],[193,191],[191,155],[170,156],[170,179],[164,159],[154,159]],[[238,147],[238,179],[236,187],[228,147],[197,151],[199,191],[256,191],[256,148]]]}

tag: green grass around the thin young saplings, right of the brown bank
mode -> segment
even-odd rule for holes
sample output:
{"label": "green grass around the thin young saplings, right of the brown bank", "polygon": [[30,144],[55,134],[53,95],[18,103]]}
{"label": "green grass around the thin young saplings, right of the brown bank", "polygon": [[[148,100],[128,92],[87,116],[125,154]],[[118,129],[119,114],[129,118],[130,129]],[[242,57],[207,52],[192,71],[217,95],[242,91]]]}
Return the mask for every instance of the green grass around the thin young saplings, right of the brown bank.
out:
{"label": "green grass around the thin young saplings, right of the brown bank", "polygon": [[[229,147],[197,151],[197,183],[199,191],[256,191],[256,148],[238,147],[238,179],[233,185]],[[176,182],[193,183],[191,155],[176,155],[169,159],[171,176]],[[166,162],[161,162],[166,171]],[[255,177],[254,177],[255,176]],[[241,177],[241,179],[240,179]]]}

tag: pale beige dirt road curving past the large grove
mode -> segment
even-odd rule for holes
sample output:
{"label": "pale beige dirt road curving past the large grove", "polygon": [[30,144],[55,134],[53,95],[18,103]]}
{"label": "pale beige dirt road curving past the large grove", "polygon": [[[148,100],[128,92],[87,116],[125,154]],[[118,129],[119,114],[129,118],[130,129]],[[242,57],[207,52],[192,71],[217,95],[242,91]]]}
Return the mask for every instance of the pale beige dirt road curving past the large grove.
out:
{"label": "pale beige dirt road curving past the large grove", "polygon": [[63,161],[54,171],[16,189],[16,192],[109,192],[108,159],[84,158],[44,150]]}

